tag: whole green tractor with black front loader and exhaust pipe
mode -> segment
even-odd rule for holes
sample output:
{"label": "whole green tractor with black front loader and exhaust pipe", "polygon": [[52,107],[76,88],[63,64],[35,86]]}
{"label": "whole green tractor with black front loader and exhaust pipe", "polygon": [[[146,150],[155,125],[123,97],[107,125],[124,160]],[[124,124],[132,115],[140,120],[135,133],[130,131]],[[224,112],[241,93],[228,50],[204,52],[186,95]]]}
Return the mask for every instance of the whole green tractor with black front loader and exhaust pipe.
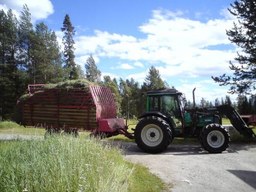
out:
{"label": "whole green tractor with black front loader and exhaust pipe", "polygon": [[146,112],[139,116],[134,129],[135,142],[147,153],[159,153],[174,137],[198,138],[209,153],[221,153],[230,143],[230,134],[223,127],[220,114],[225,115],[241,134],[254,137],[238,112],[229,105],[209,108],[184,108],[185,97],[175,89],[159,89],[146,93]]}

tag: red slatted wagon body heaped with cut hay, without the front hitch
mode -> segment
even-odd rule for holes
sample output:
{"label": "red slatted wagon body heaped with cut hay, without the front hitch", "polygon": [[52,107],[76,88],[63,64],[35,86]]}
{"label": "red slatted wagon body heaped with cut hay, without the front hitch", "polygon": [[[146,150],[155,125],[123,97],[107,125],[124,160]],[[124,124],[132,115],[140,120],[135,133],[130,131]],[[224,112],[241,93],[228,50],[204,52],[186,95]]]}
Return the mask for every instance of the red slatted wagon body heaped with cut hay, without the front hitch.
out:
{"label": "red slatted wagon body heaped with cut hay, without the front hitch", "polygon": [[[102,93],[111,96],[98,95]],[[26,126],[90,130],[98,127],[99,119],[115,117],[110,89],[86,80],[30,86],[17,103],[23,108],[22,122]],[[112,112],[103,113],[101,103],[109,106]]]}

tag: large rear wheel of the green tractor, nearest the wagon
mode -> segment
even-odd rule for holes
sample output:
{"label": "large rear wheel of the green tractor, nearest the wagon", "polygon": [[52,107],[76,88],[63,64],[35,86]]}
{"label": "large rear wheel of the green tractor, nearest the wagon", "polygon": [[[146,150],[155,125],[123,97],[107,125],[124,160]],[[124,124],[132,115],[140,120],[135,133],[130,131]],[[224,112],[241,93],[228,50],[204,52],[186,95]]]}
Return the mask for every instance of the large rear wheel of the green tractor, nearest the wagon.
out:
{"label": "large rear wheel of the green tractor, nearest the wagon", "polygon": [[172,141],[169,124],[158,117],[141,119],[134,131],[135,143],[147,153],[159,153]]}

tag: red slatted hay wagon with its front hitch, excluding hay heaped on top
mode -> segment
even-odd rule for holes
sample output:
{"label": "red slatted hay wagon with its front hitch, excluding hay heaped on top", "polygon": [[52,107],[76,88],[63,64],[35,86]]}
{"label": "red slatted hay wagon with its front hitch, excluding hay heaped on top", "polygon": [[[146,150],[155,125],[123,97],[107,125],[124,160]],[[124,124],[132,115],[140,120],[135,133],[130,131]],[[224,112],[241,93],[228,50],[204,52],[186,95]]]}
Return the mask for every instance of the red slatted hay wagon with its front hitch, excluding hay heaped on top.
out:
{"label": "red slatted hay wagon with its front hitch, excluding hay heaped on top", "polygon": [[111,137],[127,132],[127,121],[116,118],[116,105],[108,87],[89,85],[84,88],[46,88],[44,84],[28,85],[17,101],[22,108],[22,124],[45,128],[48,132],[90,131]]}

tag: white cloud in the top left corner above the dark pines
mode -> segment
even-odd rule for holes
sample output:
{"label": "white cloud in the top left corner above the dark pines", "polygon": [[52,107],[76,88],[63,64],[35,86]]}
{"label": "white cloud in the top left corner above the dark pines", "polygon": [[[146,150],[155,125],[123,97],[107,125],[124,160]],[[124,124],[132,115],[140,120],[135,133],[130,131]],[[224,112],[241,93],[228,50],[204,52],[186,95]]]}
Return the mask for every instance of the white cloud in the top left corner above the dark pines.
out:
{"label": "white cloud in the top left corner above the dark pines", "polygon": [[14,14],[18,16],[20,11],[22,11],[24,4],[27,4],[27,7],[29,8],[32,23],[35,23],[40,19],[46,19],[54,12],[50,0],[1,0],[0,9],[3,9],[4,11],[12,9]]}

